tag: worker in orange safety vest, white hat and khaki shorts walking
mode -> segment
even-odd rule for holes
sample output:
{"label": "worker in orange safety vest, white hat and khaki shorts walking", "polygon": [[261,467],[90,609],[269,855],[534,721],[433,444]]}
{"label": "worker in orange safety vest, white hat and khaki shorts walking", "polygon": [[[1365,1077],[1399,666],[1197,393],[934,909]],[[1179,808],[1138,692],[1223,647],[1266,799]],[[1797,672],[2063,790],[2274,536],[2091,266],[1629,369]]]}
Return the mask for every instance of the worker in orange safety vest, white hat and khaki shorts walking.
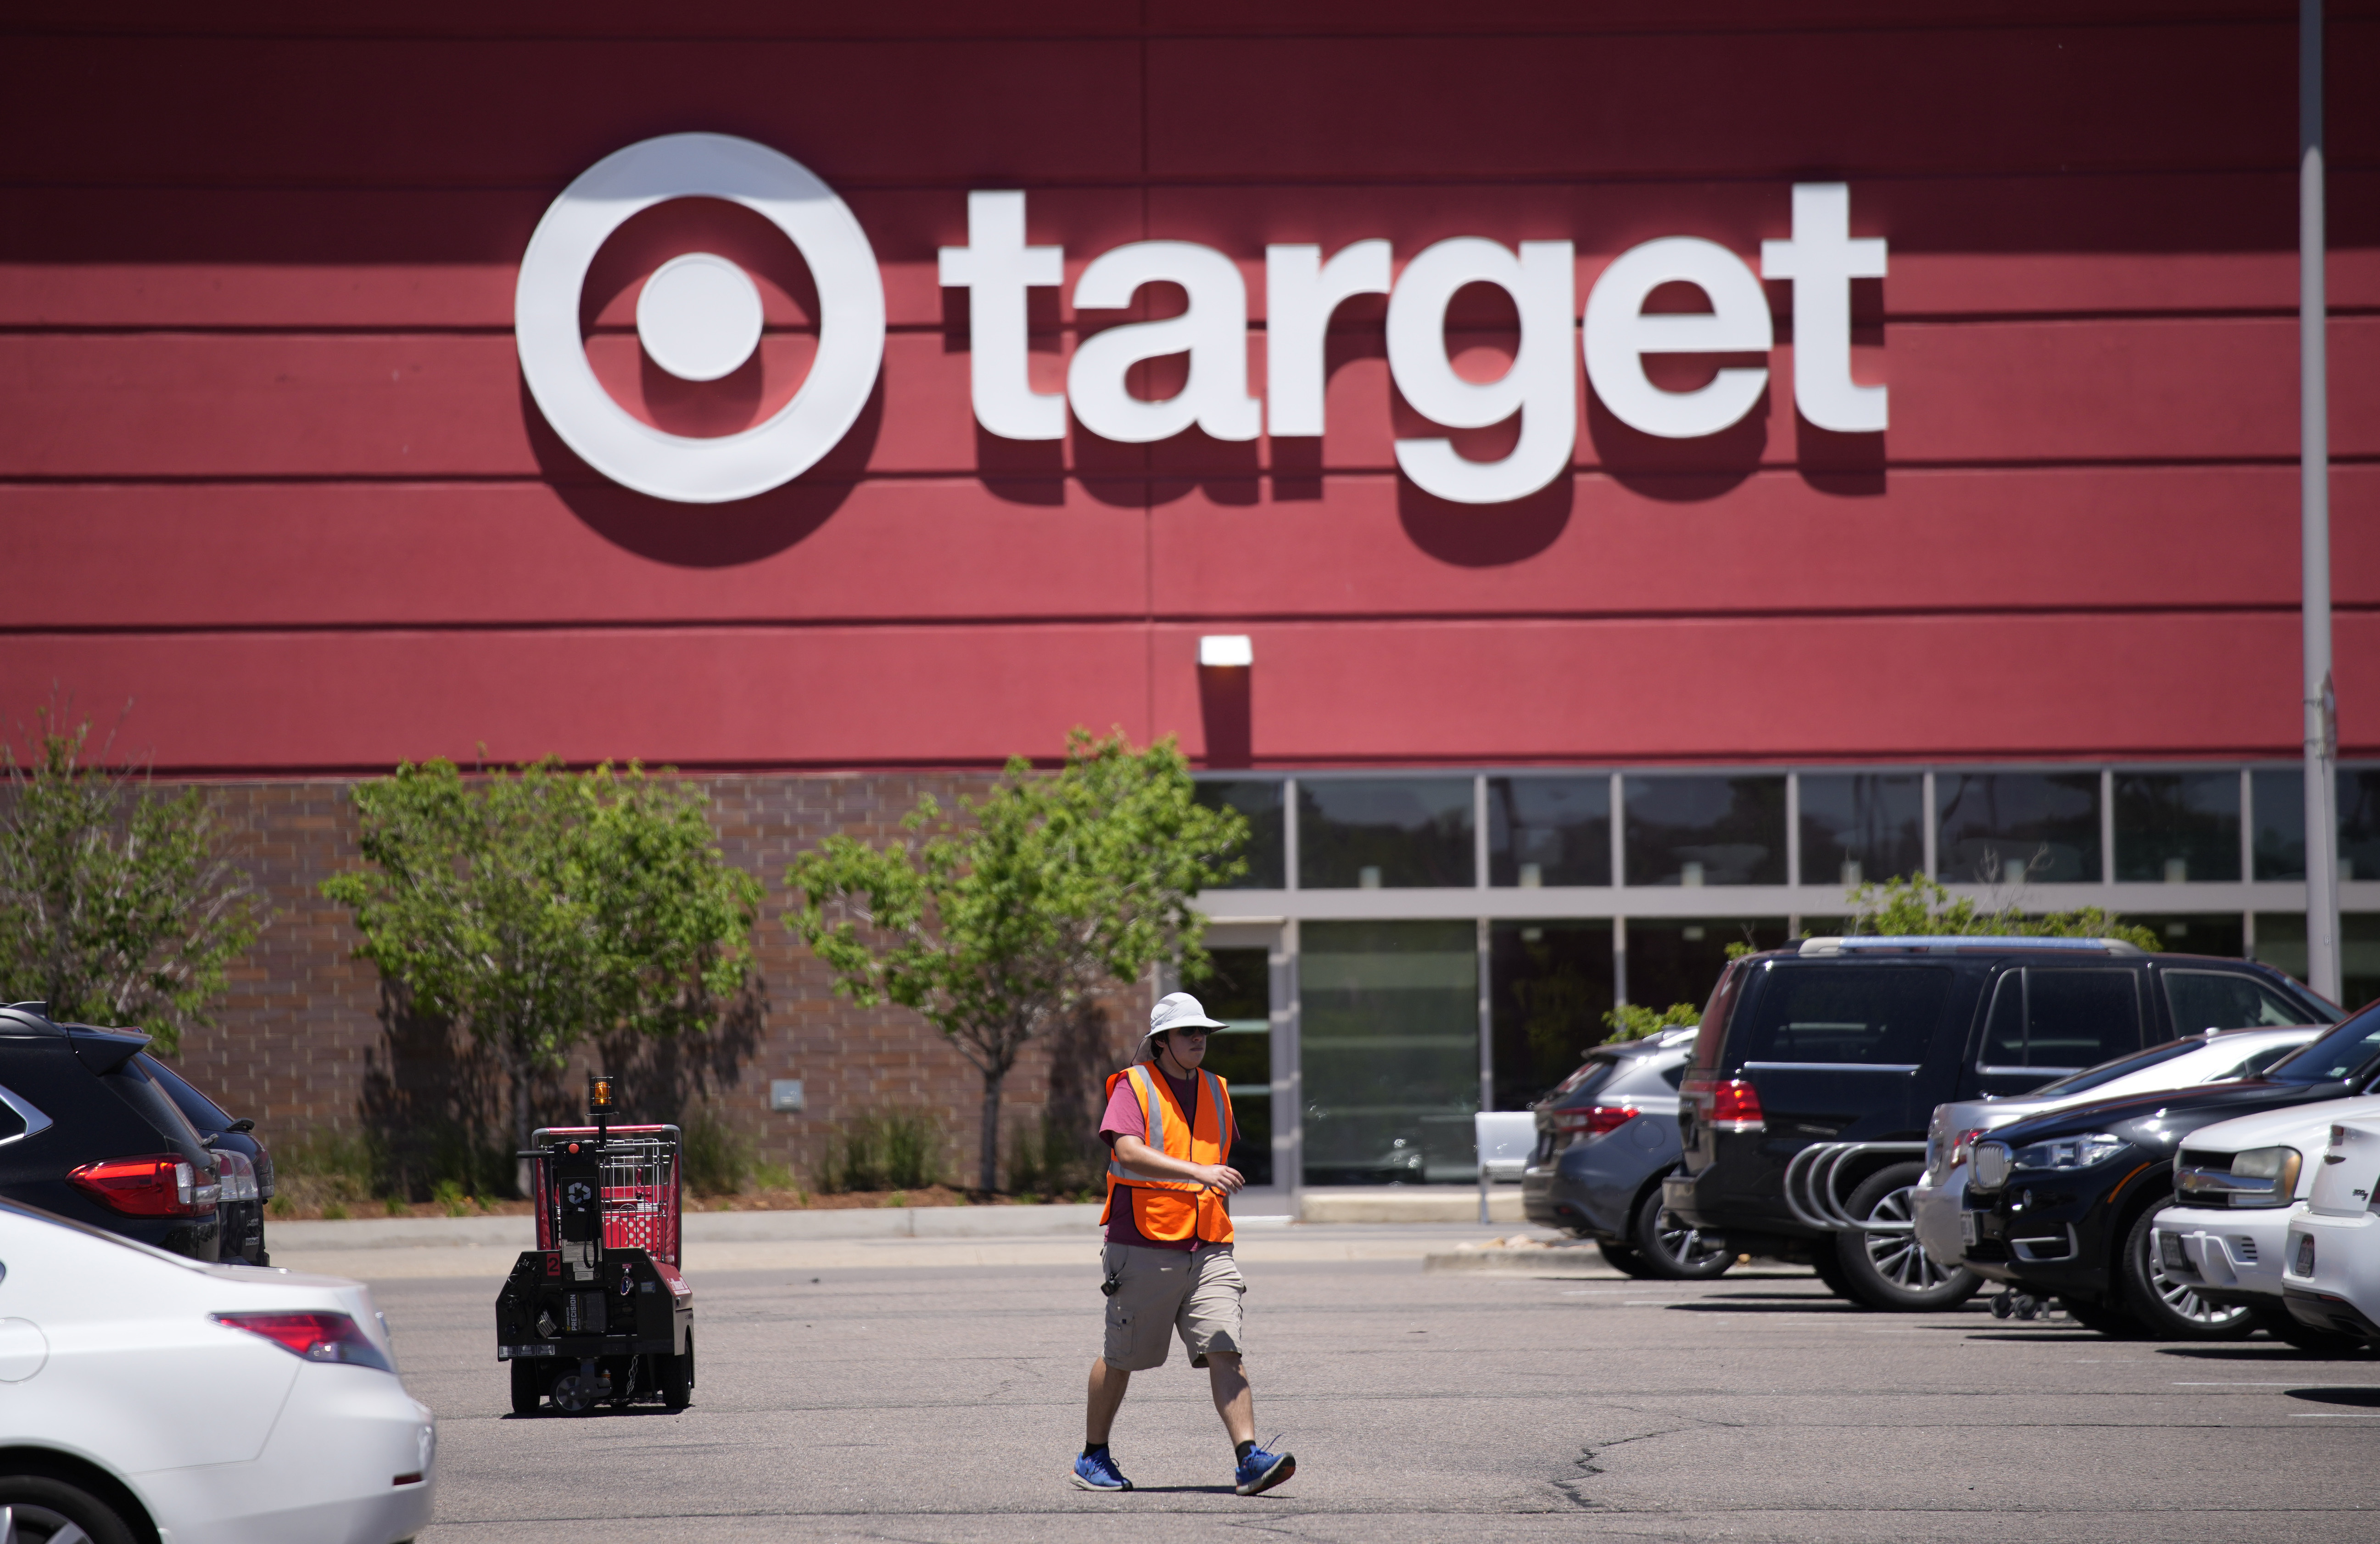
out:
{"label": "worker in orange safety vest, white hat and khaki shorts walking", "polygon": [[1230,1089],[1207,1072],[1207,1017],[1188,991],[1150,1010],[1150,1032],[1133,1065],[1107,1079],[1100,1139],[1107,1163],[1107,1346],[1090,1363],[1090,1411],[1083,1453],[1073,1461],[1081,1489],[1126,1492],[1133,1482],[1107,1451],[1116,1408],[1133,1372],[1161,1368],[1180,1334],[1192,1368],[1207,1368],[1214,1408],[1230,1434],[1233,1489],[1242,1496],[1273,1489],[1297,1458],[1257,1446],[1257,1406],[1240,1365],[1240,1263],[1230,1253],[1230,1194],[1247,1184],[1230,1168]]}

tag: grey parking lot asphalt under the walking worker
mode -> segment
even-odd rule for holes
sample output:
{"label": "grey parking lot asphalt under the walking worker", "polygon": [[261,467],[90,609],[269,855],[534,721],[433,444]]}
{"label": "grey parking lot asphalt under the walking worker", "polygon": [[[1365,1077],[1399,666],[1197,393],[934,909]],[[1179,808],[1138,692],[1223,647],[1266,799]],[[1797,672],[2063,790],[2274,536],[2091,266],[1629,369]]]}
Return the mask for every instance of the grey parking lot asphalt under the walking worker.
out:
{"label": "grey parking lot asphalt under the walking worker", "polygon": [[[1299,1234],[1319,1229],[1295,1229]],[[1442,1246],[1442,1244],[1438,1244]],[[1207,1380],[1135,1375],[1066,1484],[1100,1339],[1092,1244],[1061,1265],[693,1272],[693,1408],[507,1413],[495,1280],[388,1277],[440,1418],[421,1544],[605,1537],[2106,1542],[2380,1537],[2380,1363],[2263,1337],[2111,1341],[2063,1322],[1878,1315],[1799,1270],[1706,1284],[1261,1258],[1259,1437],[1297,1477],[1230,1494]],[[1323,1253],[1330,1253],[1328,1249]]]}

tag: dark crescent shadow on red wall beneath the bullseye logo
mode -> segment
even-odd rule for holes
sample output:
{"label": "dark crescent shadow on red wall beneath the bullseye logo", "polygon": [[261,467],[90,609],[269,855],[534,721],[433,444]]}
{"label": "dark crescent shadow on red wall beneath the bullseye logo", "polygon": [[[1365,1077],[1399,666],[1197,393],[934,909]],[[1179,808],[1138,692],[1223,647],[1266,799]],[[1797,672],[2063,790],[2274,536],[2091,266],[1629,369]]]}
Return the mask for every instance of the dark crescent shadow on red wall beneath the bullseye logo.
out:
{"label": "dark crescent shadow on red wall beneath the bullseye logo", "polygon": [[833,519],[852,488],[859,486],[876,450],[876,436],[883,431],[883,405],[885,384],[878,374],[876,391],[869,393],[859,419],[819,465],[754,498],[690,505],[635,493],[605,479],[562,443],[536,398],[528,396],[528,381],[521,381],[521,422],[528,427],[538,474],[571,515],[612,546],[638,558],[697,569],[774,558]]}

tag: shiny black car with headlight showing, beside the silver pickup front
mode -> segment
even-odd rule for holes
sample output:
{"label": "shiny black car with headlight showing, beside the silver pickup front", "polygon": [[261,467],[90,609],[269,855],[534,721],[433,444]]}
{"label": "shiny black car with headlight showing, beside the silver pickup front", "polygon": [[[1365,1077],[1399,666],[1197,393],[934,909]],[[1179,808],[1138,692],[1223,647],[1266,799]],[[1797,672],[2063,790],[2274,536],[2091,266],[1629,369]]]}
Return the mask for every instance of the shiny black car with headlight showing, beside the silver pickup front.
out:
{"label": "shiny black car with headlight showing, beside the silver pickup front", "polygon": [[[2068,1318],[2156,1339],[2247,1334],[2256,1318],[2168,1277],[2152,1220],[2173,1199],[2173,1156],[2199,1127],[2380,1091],[2380,1008],[2366,1008],[2261,1077],[2054,1110],[1975,1144],[1966,1263],[2054,1296]],[[2223,1160],[2225,1168],[2230,1160]],[[2287,1325],[2282,1325],[2287,1330]]]}

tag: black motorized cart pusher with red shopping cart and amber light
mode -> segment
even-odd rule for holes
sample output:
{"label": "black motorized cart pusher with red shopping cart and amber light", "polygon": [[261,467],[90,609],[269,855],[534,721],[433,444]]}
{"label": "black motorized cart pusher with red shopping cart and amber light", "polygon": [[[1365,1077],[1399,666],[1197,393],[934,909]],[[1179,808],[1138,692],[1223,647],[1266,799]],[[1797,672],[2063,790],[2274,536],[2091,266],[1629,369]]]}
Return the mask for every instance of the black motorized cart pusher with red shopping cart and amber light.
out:
{"label": "black motorized cart pusher with red shopping cart and amber light", "polygon": [[512,1363],[512,1413],[545,1399],[597,1403],[695,1394],[695,1289],[678,1275],[678,1127],[612,1125],[612,1079],[588,1077],[590,1127],[531,1137],[538,1246],[495,1299],[495,1356]]}

